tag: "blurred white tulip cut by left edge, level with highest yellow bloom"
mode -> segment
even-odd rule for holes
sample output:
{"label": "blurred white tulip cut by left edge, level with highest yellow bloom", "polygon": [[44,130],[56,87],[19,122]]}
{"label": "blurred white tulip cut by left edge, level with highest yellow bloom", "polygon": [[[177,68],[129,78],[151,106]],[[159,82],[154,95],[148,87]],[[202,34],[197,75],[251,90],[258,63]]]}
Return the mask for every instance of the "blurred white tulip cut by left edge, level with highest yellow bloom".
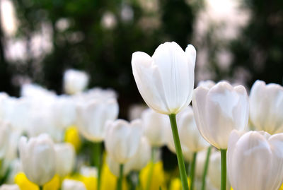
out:
{"label": "blurred white tulip cut by left edge, level with highest yellow bloom", "polygon": [[0,160],[3,160],[8,153],[11,132],[11,125],[6,121],[0,121]]}

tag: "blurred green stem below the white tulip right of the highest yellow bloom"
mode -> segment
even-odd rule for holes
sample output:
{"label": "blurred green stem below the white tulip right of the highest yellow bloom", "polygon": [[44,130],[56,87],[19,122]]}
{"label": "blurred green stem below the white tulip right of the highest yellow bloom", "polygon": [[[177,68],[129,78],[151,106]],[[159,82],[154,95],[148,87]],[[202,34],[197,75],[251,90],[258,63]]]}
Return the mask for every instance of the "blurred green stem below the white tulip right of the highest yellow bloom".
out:
{"label": "blurred green stem below the white tulip right of the highest yellow bloom", "polygon": [[96,166],[98,169],[98,183],[97,183],[97,189],[100,190],[100,182],[101,182],[101,167],[102,167],[102,159],[101,159],[101,148],[102,143],[101,142],[95,142],[93,143],[93,165]]}

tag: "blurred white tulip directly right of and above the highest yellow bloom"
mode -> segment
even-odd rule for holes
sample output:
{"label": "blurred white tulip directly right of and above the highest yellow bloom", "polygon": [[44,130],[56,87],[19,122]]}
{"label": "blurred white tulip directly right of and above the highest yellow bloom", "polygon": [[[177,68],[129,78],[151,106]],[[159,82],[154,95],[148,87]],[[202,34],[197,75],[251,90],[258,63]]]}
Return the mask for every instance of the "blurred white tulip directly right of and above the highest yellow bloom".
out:
{"label": "blurred white tulip directly right of and above the highest yellow bloom", "polygon": [[93,100],[77,106],[77,126],[89,141],[100,142],[105,138],[106,122],[117,119],[117,100]]}

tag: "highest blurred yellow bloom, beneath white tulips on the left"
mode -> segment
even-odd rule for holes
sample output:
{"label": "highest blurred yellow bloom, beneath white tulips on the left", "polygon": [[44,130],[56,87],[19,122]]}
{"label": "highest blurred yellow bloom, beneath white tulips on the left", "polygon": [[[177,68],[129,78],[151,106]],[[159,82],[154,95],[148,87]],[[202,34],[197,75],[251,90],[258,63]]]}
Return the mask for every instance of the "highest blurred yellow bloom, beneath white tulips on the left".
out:
{"label": "highest blurred yellow bloom, beneath white tulips on the left", "polygon": [[79,131],[76,129],[76,126],[69,126],[69,128],[65,131],[65,142],[71,143],[76,151],[81,148],[81,138],[79,136]]}

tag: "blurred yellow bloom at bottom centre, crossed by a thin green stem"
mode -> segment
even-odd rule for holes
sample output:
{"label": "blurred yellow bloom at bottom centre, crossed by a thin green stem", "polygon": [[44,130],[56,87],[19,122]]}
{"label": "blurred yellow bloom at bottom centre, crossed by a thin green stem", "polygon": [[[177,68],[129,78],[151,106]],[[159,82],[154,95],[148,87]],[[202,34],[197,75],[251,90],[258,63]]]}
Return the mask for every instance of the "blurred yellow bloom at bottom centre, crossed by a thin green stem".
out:
{"label": "blurred yellow bloom at bottom centre, crossed by a thin green stem", "polygon": [[[147,177],[149,175],[149,170],[150,170],[150,162],[140,172],[139,178],[141,180],[142,189],[146,188],[146,182],[147,182]],[[159,189],[160,186],[162,189],[166,189],[166,180],[165,180],[165,174],[163,171],[162,162],[156,162],[154,164],[154,172],[152,174],[151,186],[149,189],[156,190]]]}

